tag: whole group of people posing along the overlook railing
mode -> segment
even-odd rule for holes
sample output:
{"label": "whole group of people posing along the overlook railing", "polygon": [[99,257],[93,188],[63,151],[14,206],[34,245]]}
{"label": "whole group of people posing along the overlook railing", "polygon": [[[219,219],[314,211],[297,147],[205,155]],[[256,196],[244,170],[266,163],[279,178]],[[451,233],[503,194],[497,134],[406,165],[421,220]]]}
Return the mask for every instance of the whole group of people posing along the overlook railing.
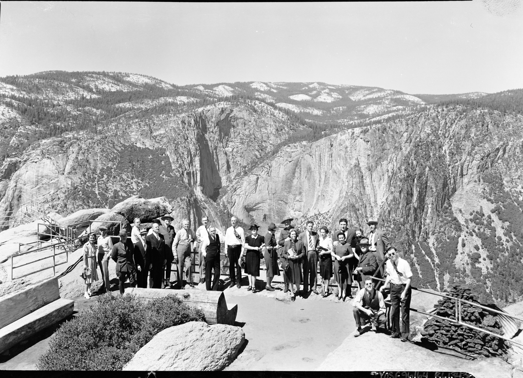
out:
{"label": "whole group of people posing along the overlook railing", "polygon": [[[261,259],[265,259],[266,266],[265,290],[275,290],[271,283],[275,276],[280,276],[281,267],[285,285],[283,291],[290,291],[291,301],[303,293],[320,295],[317,291],[318,268],[323,285],[322,296],[330,294],[329,282],[333,277],[338,285],[340,301],[353,297],[351,288],[353,282],[357,282],[360,290],[353,302],[358,326],[355,336],[362,333],[361,327],[367,322],[371,322],[372,329],[376,331],[386,322],[382,291],[390,283],[393,319],[391,337],[401,337],[404,341],[408,338],[412,272],[407,262],[397,255],[385,233],[377,228],[377,220],[367,222],[370,233],[364,237],[361,229],[348,228],[347,220],[340,219],[339,231],[330,237],[327,227],[320,227],[319,232],[313,231],[312,221],[306,222],[305,231],[298,233],[291,224],[293,219],[289,217],[282,221],[283,228],[278,239],[274,223],[269,225],[265,236],[258,234],[259,226],[256,224],[249,227],[251,235],[245,236],[235,216],[231,218],[231,226],[225,235],[210,225],[207,216],[202,217],[202,225],[196,233],[189,228],[188,220],[184,220],[183,227],[175,232],[170,225],[173,220],[170,215],[166,215],[161,220],[155,220],[150,229],[145,229],[140,228],[140,219],[134,219],[131,237],[122,230],[120,241],[115,245],[112,245],[105,227],[99,227],[97,242],[96,235],[89,234],[88,242],[84,245],[85,297],[91,295],[90,284],[98,280],[96,260],[102,272],[103,288],[109,291],[109,258],[117,263],[120,293],[124,292],[127,279],[131,286],[146,288],[149,277],[150,288],[170,288],[173,263],[178,272],[174,288],[185,289],[187,284],[194,287],[191,251],[199,255],[200,283],[205,282],[207,290],[218,290],[220,250],[223,244],[229,258],[230,287],[241,288],[243,268],[248,276],[247,290],[255,293]],[[378,283],[375,287],[371,278],[373,276],[386,278],[385,283],[381,285],[382,280],[376,280]],[[399,325],[400,308],[403,333],[400,333]]]}

